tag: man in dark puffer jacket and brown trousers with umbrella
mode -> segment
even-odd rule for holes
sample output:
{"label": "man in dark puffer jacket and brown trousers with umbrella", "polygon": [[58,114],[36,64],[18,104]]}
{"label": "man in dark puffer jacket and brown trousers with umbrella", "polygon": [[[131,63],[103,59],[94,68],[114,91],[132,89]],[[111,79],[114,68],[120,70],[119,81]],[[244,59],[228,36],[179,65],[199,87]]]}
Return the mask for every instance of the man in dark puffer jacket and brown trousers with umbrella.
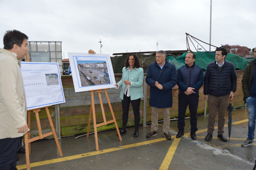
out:
{"label": "man in dark puffer jacket and brown trousers with umbrella", "polygon": [[204,78],[204,94],[208,100],[209,117],[206,141],[210,141],[214,131],[215,117],[218,110],[218,138],[227,142],[224,136],[225,113],[229,98],[233,99],[236,91],[237,75],[235,66],[225,59],[228,52],[217,48],[215,61],[207,65]]}

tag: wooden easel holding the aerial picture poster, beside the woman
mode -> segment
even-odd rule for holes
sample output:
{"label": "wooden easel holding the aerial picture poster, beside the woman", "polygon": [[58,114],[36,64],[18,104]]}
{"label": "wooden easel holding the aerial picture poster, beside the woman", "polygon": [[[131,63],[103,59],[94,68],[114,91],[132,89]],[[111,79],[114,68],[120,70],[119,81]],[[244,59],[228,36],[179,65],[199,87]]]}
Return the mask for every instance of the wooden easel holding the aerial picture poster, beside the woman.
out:
{"label": "wooden easel holding the aerial picture poster, beside the woman", "polygon": [[[88,90],[88,92],[91,92],[92,101],[91,101],[91,107],[90,107],[90,116],[89,116],[89,122],[88,122],[87,137],[89,137],[90,123],[91,123],[91,118],[93,116],[93,127],[94,127],[95,144],[96,144],[96,150],[97,151],[99,150],[97,127],[100,127],[100,126],[103,126],[103,125],[107,125],[109,123],[113,123],[114,122],[115,123],[115,128],[117,130],[117,134],[119,136],[119,140],[122,141],[122,138],[121,138],[121,135],[120,135],[120,132],[119,132],[116,120],[115,120],[115,115],[114,115],[114,112],[113,112],[110,100],[108,98],[108,93],[107,93],[106,89],[109,89],[109,88],[104,88],[104,89],[96,90],[98,95],[99,95],[100,107],[101,107],[102,116],[103,116],[103,120],[104,120],[103,123],[99,123],[99,124],[96,124],[96,116],[95,116],[95,106],[94,106],[94,91],[95,90]],[[111,120],[111,121],[106,121],[105,112],[104,112],[104,108],[103,108],[103,104],[102,104],[102,98],[101,98],[102,90],[104,90],[104,92],[105,92],[106,98],[108,100],[108,105],[109,105],[109,108],[110,108],[110,111],[111,111],[111,114],[112,114],[112,117],[113,117],[113,120]]]}

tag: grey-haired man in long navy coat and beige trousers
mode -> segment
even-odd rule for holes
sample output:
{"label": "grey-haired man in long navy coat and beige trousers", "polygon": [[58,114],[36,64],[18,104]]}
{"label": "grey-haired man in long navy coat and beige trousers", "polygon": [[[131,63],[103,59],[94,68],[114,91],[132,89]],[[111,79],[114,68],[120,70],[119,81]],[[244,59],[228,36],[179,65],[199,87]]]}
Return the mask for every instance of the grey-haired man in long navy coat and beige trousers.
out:
{"label": "grey-haired man in long navy coat and beige trousers", "polygon": [[176,68],[166,59],[163,50],[156,52],[156,62],[148,67],[146,83],[150,86],[149,105],[151,106],[151,131],[147,134],[148,138],[156,135],[158,129],[158,110],[162,108],[164,115],[164,136],[171,139],[170,129],[170,107],[172,107],[172,88],[177,83]]}

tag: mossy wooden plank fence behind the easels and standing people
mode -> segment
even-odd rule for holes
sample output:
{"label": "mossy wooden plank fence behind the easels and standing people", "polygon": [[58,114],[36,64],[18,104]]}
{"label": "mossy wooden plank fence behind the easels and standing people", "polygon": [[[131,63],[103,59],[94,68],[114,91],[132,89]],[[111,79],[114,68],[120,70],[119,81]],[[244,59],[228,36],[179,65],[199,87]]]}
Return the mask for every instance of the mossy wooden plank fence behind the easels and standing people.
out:
{"label": "mossy wooden plank fence behind the easels and standing people", "polygon": [[[235,97],[232,100],[232,105],[234,108],[243,107],[243,92],[242,92],[242,86],[241,86],[241,79],[243,76],[243,71],[236,71],[238,75],[238,81],[237,81],[237,90],[235,93]],[[121,79],[121,74],[115,74],[116,82],[118,82]],[[146,74],[144,75],[146,76]],[[65,103],[59,104],[59,127],[58,131],[60,129],[60,134],[57,133],[59,136],[69,136],[73,134],[81,134],[86,133],[88,128],[88,119],[89,119],[89,113],[90,113],[90,103],[91,103],[91,96],[90,92],[78,92],[75,93],[74,85],[73,85],[73,79],[72,76],[64,75],[61,76],[61,81],[63,85],[64,95],[65,95]],[[144,86],[143,86],[144,87]],[[149,86],[147,85],[146,88],[146,122],[151,122],[151,107],[149,105]],[[120,89],[108,89],[108,96],[110,98],[110,102],[115,114],[115,119],[117,121],[118,127],[122,127],[122,105],[121,105],[121,99],[120,96]],[[170,117],[176,118],[178,117],[178,86],[176,85],[172,89],[172,95],[173,95],[173,105],[170,108]],[[103,122],[103,117],[101,114],[101,108],[100,103],[98,99],[98,94],[95,94],[95,112],[96,112],[96,121],[97,123]],[[112,115],[108,106],[108,102],[106,100],[104,92],[102,92],[102,102],[104,103],[104,111],[106,114],[106,120],[111,120]],[[140,125],[143,124],[143,111],[144,111],[144,99],[141,98],[141,105],[140,105],[140,114],[141,114],[141,120]],[[208,104],[207,104],[207,113],[208,113]],[[40,115],[40,122],[43,133],[47,133],[51,131],[51,127],[49,125],[49,121],[47,119],[46,111],[45,109],[41,109],[42,111],[39,112]],[[199,90],[199,105],[197,113],[204,113],[205,110],[205,99],[203,94],[203,87]],[[53,124],[55,125],[55,106],[52,106],[49,108]],[[189,109],[187,108],[186,115],[189,115]],[[158,114],[158,120],[163,119],[163,113],[162,109],[159,109]],[[93,121],[92,121],[93,123]],[[90,126],[90,132],[93,132],[93,125],[91,123]],[[133,116],[133,110],[132,106],[130,105],[129,108],[129,117],[128,117],[128,123],[127,127],[134,126],[134,116]],[[108,130],[108,129],[114,129],[115,125],[114,123],[108,124],[105,126],[101,126],[97,128],[97,131],[101,130]],[[58,132],[57,131],[57,132]],[[31,137],[39,136],[38,130],[37,130],[37,123],[36,123],[36,117],[35,114],[31,113]],[[48,137],[49,138],[49,137]]]}

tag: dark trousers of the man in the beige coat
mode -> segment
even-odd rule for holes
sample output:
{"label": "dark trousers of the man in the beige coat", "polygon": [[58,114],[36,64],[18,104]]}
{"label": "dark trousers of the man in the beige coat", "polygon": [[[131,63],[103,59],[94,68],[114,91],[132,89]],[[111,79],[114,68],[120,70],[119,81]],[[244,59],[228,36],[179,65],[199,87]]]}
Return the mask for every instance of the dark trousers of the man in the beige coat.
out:
{"label": "dark trousers of the man in the beige coat", "polygon": [[20,137],[0,139],[0,169],[16,170],[16,157],[20,149]]}

